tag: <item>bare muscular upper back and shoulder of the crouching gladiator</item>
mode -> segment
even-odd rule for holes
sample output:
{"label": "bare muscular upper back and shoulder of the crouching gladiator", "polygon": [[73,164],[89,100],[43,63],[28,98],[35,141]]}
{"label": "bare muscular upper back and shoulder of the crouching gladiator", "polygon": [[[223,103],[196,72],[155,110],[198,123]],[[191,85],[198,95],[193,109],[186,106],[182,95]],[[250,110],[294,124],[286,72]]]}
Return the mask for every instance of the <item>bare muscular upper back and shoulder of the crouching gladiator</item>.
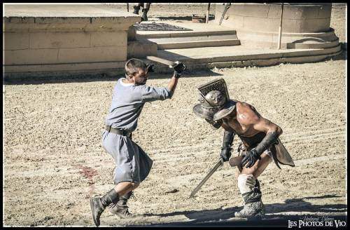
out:
{"label": "bare muscular upper back and shoulder of the crouching gladiator", "polygon": [[246,102],[237,102],[236,109],[223,118],[225,130],[235,130],[235,133],[244,137],[251,137],[260,132],[277,132],[281,135],[279,126],[260,116],[255,108]]}

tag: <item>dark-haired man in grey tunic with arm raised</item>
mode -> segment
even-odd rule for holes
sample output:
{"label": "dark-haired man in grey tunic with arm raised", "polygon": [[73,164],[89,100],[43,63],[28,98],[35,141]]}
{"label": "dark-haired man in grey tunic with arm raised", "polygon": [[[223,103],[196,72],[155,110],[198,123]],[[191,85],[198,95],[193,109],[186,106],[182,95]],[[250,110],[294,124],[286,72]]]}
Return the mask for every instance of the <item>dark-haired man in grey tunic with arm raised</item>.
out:
{"label": "dark-haired man in grey tunic with arm raised", "polygon": [[151,65],[132,58],[125,64],[125,78],[119,79],[113,90],[111,108],[106,116],[106,130],[102,134],[102,147],[109,153],[116,167],[113,170],[114,187],[102,197],[90,198],[94,224],[99,226],[102,212],[109,211],[123,218],[133,217],[127,209],[132,191],[146,179],[153,161],[132,140],[139,116],[146,102],[172,98],[185,65],[174,62],[174,74],[167,87],[147,86]]}

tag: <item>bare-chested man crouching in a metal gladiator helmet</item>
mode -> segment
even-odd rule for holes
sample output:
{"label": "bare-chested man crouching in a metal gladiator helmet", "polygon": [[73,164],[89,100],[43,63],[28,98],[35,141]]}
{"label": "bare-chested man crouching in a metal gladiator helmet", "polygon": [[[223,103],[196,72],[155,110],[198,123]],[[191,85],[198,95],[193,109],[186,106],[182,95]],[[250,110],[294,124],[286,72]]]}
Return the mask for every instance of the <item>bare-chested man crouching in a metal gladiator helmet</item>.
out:
{"label": "bare-chested man crouching in a metal gladiator helmet", "polygon": [[[238,187],[244,208],[235,212],[235,217],[261,217],[265,208],[261,200],[259,175],[272,160],[278,168],[279,163],[294,166],[293,159],[279,140],[282,129],[263,118],[251,104],[230,100],[223,79],[206,83],[198,90],[200,104],[193,107],[195,114],[214,128],[225,130],[220,154],[222,160],[233,165],[232,160],[239,159]],[[240,138],[241,144],[238,157],[230,158],[235,135]]]}

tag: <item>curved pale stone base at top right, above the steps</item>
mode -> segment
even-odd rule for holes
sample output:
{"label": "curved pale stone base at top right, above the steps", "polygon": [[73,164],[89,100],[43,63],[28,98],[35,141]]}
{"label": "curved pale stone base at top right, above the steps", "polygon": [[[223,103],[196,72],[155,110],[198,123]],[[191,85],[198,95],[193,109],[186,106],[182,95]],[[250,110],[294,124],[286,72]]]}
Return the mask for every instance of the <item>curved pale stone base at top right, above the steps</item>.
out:
{"label": "curved pale stone base at top right, above the steps", "polygon": [[[216,23],[224,8],[216,5]],[[331,4],[284,4],[281,47],[305,37],[325,43],[337,40],[330,29],[331,10]],[[231,4],[221,25],[236,29],[242,45],[276,48],[281,13],[281,4]]]}

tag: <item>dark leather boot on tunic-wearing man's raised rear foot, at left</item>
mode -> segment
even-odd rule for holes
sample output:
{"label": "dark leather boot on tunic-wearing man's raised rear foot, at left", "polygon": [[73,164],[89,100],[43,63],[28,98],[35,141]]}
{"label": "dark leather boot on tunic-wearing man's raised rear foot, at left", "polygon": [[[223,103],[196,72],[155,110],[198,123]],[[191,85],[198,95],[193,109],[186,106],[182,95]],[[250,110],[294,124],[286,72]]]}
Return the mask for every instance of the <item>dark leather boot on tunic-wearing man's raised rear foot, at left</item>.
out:
{"label": "dark leather boot on tunic-wearing man's raised rear foot, at left", "polygon": [[104,196],[90,198],[90,208],[92,212],[92,219],[94,224],[99,226],[99,217],[101,217],[102,212],[111,203],[117,203],[119,201],[119,195],[115,189],[108,191]]}

